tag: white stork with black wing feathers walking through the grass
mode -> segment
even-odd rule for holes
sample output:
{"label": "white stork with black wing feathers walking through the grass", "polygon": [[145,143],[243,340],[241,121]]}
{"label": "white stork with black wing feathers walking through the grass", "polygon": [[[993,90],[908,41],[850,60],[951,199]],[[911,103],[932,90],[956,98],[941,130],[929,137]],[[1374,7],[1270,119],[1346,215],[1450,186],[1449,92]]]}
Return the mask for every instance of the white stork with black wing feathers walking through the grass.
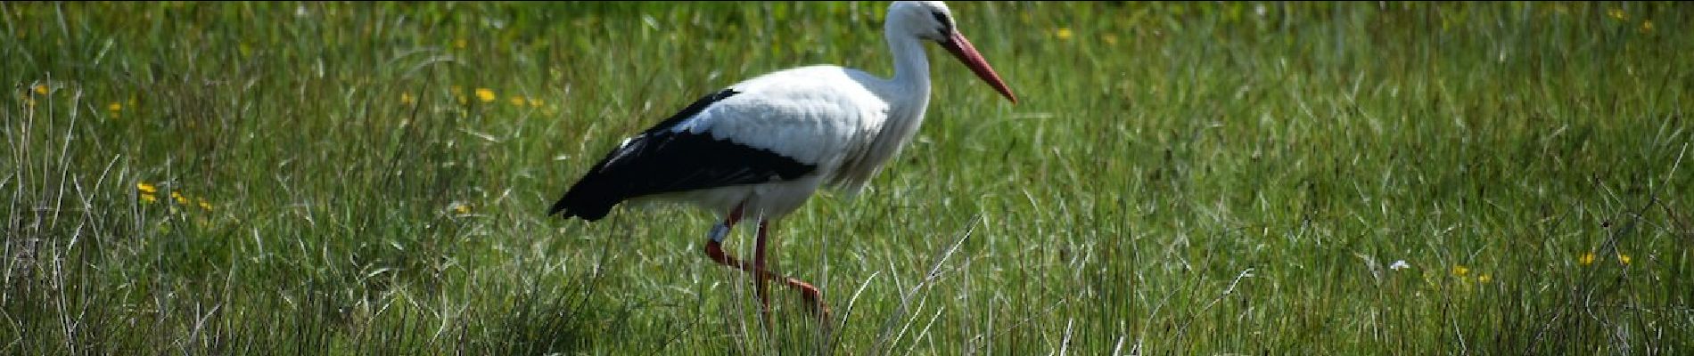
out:
{"label": "white stork with black wing feathers walking through the grass", "polygon": [[[798,289],[827,317],[817,287],[766,270],[767,223],[798,209],[822,186],[859,192],[911,140],[930,103],[923,42],[940,44],[1006,100],[1018,101],[957,30],[945,3],[894,2],[883,30],[894,78],[808,66],[737,83],[625,138],[547,214],[596,221],[623,201],[645,199],[717,211],[723,223],[706,235],[706,256],[754,273],[761,310],[771,305],[771,278]],[[725,255],[722,246],[744,214],[759,221],[752,265]]]}

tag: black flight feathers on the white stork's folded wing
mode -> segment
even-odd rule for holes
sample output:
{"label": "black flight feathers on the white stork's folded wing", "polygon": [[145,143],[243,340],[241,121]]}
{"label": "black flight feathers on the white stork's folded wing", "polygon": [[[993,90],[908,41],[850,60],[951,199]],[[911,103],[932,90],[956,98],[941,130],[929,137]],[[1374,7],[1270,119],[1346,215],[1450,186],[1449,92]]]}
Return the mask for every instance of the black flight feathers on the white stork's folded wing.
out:
{"label": "black flight feathers on the white stork's folded wing", "polygon": [[766,148],[720,140],[710,132],[673,132],[706,106],[737,94],[725,89],[695,101],[654,128],[632,137],[600,159],[583,179],[559,197],[547,214],[588,221],[605,218],[618,202],[652,194],[683,192],[739,184],[789,181],[817,170]]}

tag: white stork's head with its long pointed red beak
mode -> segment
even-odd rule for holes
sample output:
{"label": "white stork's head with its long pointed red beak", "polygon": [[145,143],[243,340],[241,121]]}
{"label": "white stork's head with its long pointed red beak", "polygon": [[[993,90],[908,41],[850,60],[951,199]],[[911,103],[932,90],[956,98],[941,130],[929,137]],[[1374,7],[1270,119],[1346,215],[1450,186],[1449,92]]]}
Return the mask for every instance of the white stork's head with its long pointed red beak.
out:
{"label": "white stork's head with its long pointed red beak", "polygon": [[971,67],[977,78],[988,81],[994,86],[999,94],[1005,94],[1011,103],[1018,103],[1018,96],[1011,94],[1011,88],[999,79],[994,67],[988,66],[983,54],[976,52],[971,40],[959,32],[954,24],[952,10],[942,2],[894,2],[888,7],[888,19],[883,25],[891,35],[908,34],[923,40],[935,40],[947,52],[957,57],[964,66]]}

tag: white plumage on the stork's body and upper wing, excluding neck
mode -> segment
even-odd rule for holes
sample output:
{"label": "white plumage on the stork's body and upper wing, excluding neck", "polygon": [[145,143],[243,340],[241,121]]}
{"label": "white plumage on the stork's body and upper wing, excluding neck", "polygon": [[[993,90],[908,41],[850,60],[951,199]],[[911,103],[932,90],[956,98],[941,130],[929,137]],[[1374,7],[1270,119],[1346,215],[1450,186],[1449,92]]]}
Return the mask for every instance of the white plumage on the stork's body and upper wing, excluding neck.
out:
{"label": "white plumage on the stork's body and upper wing, excluding neck", "polygon": [[706,133],[718,140],[771,150],[815,169],[793,181],[711,187],[676,197],[720,211],[723,216],[745,202],[745,211],[779,219],[798,209],[822,184],[833,182],[849,192],[857,192],[888,160],[888,155],[874,154],[893,154],[874,152],[874,143],[881,138],[893,142],[884,145],[884,150],[898,150],[905,142],[896,137],[898,130],[891,130],[894,135],[881,135],[883,127],[891,123],[889,105],[872,89],[854,86],[867,78],[874,79],[859,71],[811,66],[730,86],[740,94],[713,103],[671,130]]}

